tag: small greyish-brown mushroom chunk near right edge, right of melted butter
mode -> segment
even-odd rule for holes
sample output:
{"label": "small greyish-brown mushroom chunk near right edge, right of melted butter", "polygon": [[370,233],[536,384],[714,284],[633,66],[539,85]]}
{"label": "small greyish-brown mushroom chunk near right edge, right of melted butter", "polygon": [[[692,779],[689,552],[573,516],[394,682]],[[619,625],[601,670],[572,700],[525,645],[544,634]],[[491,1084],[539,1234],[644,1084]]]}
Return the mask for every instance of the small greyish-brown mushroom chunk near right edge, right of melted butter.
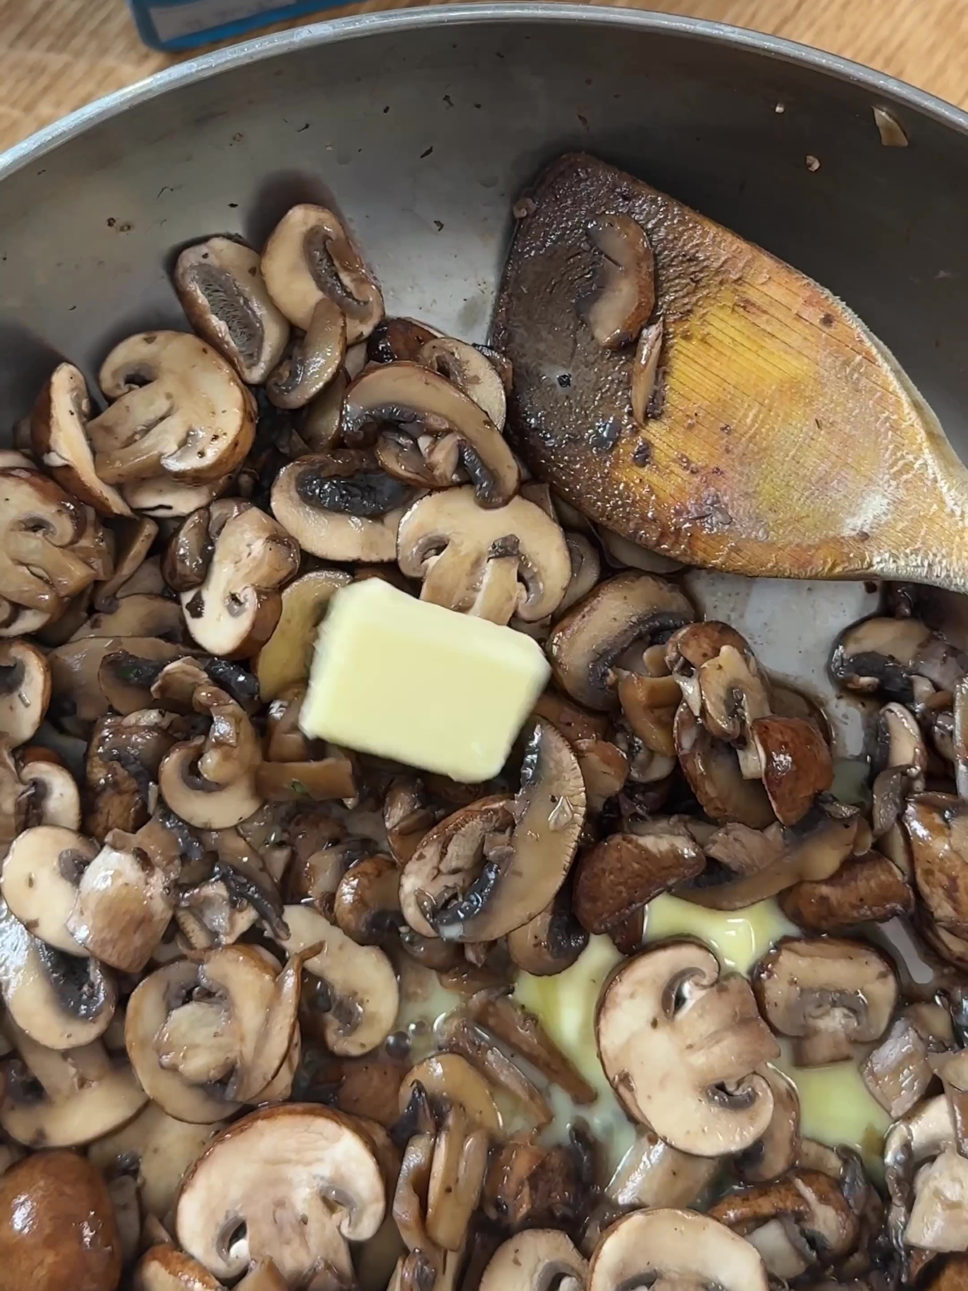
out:
{"label": "small greyish-brown mushroom chunk near right edge, right of melted butter", "polygon": [[924,1002],[909,1004],[863,1060],[863,1083],[894,1119],[907,1115],[934,1079],[931,1056],[953,1044],[951,1015],[946,1008]]}

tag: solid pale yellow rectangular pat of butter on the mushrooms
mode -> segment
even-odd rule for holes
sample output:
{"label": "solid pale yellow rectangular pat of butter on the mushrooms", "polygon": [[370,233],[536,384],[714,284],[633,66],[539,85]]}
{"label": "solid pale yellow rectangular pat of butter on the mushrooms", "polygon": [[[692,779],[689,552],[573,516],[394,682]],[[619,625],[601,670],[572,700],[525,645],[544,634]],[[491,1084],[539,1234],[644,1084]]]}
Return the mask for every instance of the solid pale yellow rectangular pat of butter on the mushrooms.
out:
{"label": "solid pale yellow rectangular pat of butter on the mushrooms", "polygon": [[501,771],[550,674],[524,633],[367,578],[329,602],[299,726],[476,784]]}

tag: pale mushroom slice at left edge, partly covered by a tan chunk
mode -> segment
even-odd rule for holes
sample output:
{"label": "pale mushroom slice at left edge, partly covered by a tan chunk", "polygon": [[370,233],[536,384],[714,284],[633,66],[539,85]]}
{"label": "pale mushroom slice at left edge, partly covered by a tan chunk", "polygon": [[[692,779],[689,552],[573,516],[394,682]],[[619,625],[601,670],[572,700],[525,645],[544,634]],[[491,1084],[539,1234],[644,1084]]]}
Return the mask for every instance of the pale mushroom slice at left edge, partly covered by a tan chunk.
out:
{"label": "pale mushroom slice at left edge, partly covered by a tan chunk", "polygon": [[81,873],[97,856],[97,844],[57,825],[26,829],[10,844],[0,889],[10,913],[34,936],[68,955],[86,957],[67,931]]}

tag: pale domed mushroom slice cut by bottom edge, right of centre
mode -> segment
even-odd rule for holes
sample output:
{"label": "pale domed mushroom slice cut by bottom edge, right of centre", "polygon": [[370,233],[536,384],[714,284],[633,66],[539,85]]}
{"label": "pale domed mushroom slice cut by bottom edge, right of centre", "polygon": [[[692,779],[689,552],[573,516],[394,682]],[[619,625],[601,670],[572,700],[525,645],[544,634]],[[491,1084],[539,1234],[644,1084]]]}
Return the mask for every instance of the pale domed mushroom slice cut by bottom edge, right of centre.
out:
{"label": "pale domed mushroom slice cut by bottom edge, right of centre", "polygon": [[589,1266],[589,1291],[621,1291],[645,1283],[723,1291],[768,1291],[767,1270],[755,1250],[724,1224],[683,1210],[636,1211],[617,1220],[599,1242]]}

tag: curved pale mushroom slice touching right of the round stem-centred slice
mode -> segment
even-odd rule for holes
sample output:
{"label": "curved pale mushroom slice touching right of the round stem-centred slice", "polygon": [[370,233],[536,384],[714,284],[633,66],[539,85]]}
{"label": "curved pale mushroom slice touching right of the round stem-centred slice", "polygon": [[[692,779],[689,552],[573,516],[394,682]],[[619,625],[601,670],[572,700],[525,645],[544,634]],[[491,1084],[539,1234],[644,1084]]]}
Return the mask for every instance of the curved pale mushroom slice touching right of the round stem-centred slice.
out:
{"label": "curved pale mushroom slice touching right of the round stem-centred slice", "polygon": [[333,1053],[356,1057],[382,1044],[392,1030],[400,1004],[396,975],[377,946],[360,946],[342,928],[307,905],[283,911],[289,936],[280,945],[288,954],[319,946],[305,963],[321,989],[306,1006],[323,1015],[323,1034]]}

